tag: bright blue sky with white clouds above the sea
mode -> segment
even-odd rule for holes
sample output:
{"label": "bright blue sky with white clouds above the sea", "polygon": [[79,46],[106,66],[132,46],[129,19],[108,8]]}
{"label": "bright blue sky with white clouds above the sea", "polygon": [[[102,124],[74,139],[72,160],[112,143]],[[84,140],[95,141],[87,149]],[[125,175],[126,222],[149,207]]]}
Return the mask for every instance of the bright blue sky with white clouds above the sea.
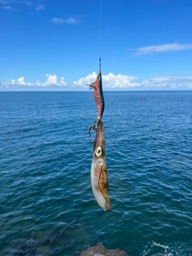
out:
{"label": "bright blue sky with white clouds above the sea", "polygon": [[0,0],[0,91],[192,90],[191,0]]}

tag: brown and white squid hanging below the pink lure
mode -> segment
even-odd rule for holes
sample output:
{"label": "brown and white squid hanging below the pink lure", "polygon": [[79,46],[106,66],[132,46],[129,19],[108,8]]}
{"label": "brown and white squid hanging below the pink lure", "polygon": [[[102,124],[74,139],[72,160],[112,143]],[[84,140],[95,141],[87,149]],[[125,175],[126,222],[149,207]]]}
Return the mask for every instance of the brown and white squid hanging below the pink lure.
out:
{"label": "brown and white squid hanging below the pink lure", "polygon": [[94,197],[104,210],[110,210],[110,198],[108,193],[108,179],[106,170],[106,155],[105,155],[105,131],[103,123],[100,118],[94,121],[94,126],[90,127],[91,130],[96,131],[94,139],[94,154],[91,165],[91,187]]}

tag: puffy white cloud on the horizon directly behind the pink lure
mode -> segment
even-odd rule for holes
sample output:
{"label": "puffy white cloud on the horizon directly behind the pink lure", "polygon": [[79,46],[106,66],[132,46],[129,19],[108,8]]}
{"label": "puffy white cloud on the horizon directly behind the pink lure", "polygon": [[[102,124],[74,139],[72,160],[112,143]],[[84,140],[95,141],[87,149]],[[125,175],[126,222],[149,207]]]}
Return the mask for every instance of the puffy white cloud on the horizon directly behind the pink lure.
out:
{"label": "puffy white cloud on the horizon directly behind the pink lure", "polygon": [[[86,78],[80,78],[78,81],[74,82],[74,86],[86,86],[93,82],[97,77],[97,74],[93,72],[86,76]],[[137,82],[138,78],[134,76],[127,76],[123,74],[114,75],[112,73],[102,75],[102,85],[105,88],[110,89],[127,89],[140,86]]]}

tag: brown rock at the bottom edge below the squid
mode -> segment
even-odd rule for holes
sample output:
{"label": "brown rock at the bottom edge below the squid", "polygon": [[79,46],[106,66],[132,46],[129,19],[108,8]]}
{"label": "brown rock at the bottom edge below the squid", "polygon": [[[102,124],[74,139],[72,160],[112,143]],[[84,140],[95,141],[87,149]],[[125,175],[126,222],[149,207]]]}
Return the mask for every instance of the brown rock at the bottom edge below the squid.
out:
{"label": "brown rock at the bottom edge below the squid", "polygon": [[107,250],[105,246],[99,244],[98,246],[89,247],[83,250],[80,256],[129,256],[124,250],[114,249]]}

